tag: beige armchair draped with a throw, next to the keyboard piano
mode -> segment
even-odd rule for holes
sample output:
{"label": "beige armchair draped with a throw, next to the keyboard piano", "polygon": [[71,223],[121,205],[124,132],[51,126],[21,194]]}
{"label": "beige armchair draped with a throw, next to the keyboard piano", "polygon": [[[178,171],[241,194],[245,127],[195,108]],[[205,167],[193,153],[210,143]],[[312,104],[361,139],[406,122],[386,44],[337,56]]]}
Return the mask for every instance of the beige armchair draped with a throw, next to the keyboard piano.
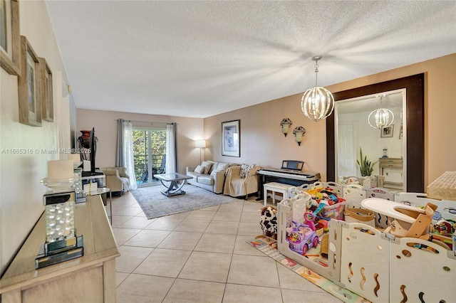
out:
{"label": "beige armchair draped with a throw, next to the keyboard piano", "polygon": [[[244,166],[244,165],[243,165]],[[225,173],[225,184],[223,188],[223,194],[239,197],[249,196],[251,193],[258,193],[259,176],[257,171],[261,169],[259,166],[244,166],[245,177],[242,178],[242,167],[240,165],[231,166]]]}

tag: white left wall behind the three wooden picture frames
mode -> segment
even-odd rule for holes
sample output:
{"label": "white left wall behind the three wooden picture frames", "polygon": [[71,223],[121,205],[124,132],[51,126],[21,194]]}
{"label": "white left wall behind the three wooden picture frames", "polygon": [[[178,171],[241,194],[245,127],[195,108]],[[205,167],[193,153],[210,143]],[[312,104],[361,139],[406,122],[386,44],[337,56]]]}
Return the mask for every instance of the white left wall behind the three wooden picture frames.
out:
{"label": "white left wall behind the three wooden picture frames", "polygon": [[[69,146],[68,81],[44,1],[19,1],[21,35],[26,36],[39,57],[46,58],[53,72],[54,122],[43,127],[19,123],[17,77],[0,69],[0,263],[1,272],[19,249],[43,212],[41,179],[47,175],[47,161]],[[17,154],[14,151],[29,151]],[[44,239],[44,231],[43,231]],[[38,248],[36,248],[38,251]]]}

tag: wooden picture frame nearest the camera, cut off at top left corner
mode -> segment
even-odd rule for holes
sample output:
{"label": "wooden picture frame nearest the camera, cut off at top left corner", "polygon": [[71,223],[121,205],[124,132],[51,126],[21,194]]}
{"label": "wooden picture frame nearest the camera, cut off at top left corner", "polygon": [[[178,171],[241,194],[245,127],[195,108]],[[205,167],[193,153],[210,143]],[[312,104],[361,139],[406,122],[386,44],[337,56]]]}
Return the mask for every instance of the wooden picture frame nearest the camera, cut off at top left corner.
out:
{"label": "wooden picture frame nearest the camera, cut off at top left corner", "polygon": [[21,75],[21,33],[18,0],[0,0],[0,66]]}

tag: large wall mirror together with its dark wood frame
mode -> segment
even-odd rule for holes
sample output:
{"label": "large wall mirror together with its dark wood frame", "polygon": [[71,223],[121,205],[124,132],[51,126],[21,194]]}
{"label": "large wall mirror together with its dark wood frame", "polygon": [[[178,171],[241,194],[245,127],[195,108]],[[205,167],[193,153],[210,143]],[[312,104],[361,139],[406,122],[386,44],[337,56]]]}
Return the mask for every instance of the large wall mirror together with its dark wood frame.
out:
{"label": "large wall mirror together with its dark wood frame", "polygon": [[[383,107],[390,107],[395,115],[393,127],[386,130],[372,129],[364,117],[379,106],[380,95],[385,96]],[[388,159],[401,161],[402,168],[383,171],[384,175],[388,173],[385,185],[396,191],[424,192],[424,74],[335,92],[333,96],[336,110],[326,119],[326,179],[338,181],[339,176],[353,172],[351,176],[360,176],[356,166],[359,147],[371,161],[382,159],[386,148]],[[373,174],[381,174],[379,163],[374,168]]]}

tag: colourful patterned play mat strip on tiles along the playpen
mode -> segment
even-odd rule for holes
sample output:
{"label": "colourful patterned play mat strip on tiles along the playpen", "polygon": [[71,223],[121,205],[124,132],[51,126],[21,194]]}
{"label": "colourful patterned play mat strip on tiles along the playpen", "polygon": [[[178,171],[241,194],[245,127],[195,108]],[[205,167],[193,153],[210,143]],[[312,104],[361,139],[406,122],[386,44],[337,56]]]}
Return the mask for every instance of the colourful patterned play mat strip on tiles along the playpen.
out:
{"label": "colourful patterned play mat strip on tiles along the playpen", "polygon": [[257,250],[260,250],[267,256],[273,258],[277,262],[285,265],[289,270],[296,272],[296,274],[301,277],[306,278],[309,282],[314,283],[314,285],[325,290],[329,294],[332,294],[334,297],[341,299],[343,302],[348,303],[366,303],[371,302],[367,299],[364,299],[358,294],[351,292],[348,289],[342,288],[336,285],[331,280],[326,279],[321,275],[318,275],[316,272],[309,270],[309,268],[299,264],[298,262],[291,260],[289,257],[282,255],[279,250],[277,250],[277,242],[271,238],[263,237],[262,235],[258,236],[255,239],[252,239],[250,242],[247,242],[252,245]]}

